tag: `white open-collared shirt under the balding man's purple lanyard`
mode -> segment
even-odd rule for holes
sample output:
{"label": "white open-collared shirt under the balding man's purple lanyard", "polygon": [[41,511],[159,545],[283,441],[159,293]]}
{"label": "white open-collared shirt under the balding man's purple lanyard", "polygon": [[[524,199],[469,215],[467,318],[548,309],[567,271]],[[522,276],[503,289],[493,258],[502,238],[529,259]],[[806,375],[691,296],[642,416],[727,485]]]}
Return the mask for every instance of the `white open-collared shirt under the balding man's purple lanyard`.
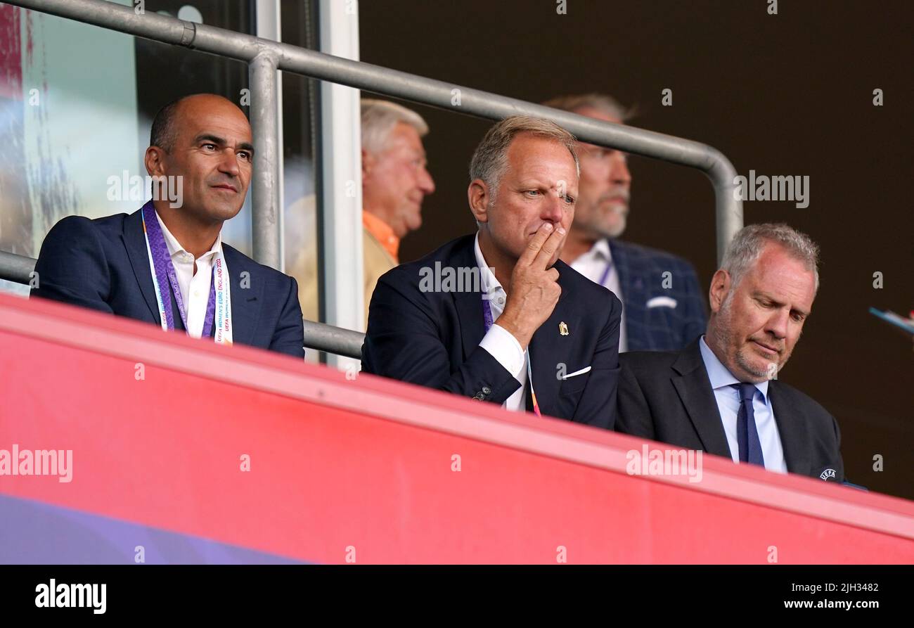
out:
{"label": "white open-collared shirt under the balding man's purple lanyard", "polygon": [[[165,245],[168,247],[172,264],[175,266],[177,285],[181,290],[181,298],[184,299],[184,304],[187,308],[187,334],[199,338],[203,335],[203,323],[207,316],[209,288],[213,280],[213,264],[216,262],[216,253],[222,250],[222,233],[221,231],[219,232],[212,248],[197,258],[197,272],[195,273],[194,254],[186,251],[181,246],[181,243],[175,239],[171,231],[165,227],[165,223],[162,218],[159,218],[158,212],[155,213],[155,218],[158,218],[162,234],[165,236]],[[165,290],[165,286],[159,287],[163,291]],[[170,307],[170,304],[165,307]],[[213,325],[216,325],[215,321]]]}

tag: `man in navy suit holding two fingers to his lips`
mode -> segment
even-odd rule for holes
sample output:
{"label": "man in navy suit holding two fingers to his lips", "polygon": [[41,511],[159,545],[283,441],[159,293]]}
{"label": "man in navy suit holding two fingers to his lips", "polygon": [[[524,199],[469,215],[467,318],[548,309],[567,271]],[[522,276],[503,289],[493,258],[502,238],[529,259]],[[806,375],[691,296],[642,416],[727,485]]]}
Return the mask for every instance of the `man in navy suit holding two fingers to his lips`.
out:
{"label": "man in navy suit holding two fingers to his lips", "polygon": [[558,261],[578,177],[558,125],[495,124],[470,165],[479,230],[380,278],[362,370],[612,429],[622,304]]}

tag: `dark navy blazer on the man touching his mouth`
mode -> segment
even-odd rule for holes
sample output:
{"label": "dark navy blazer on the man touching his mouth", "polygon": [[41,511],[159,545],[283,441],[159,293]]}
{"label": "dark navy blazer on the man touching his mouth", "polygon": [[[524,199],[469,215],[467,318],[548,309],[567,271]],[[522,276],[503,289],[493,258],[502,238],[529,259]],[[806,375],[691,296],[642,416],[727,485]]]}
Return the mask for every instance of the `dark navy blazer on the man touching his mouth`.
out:
{"label": "dark navy blazer on the man touching his mouth", "polygon": [[[464,291],[450,292],[422,289],[422,269],[433,271],[436,263],[441,269],[475,269],[473,243],[472,235],[454,239],[381,276],[368,309],[364,372],[496,404],[520,388],[479,346],[485,334],[482,286],[468,290],[464,284]],[[540,411],[611,430],[622,303],[564,262],[557,261],[555,268],[562,293],[528,347]],[[568,335],[562,335],[566,327]],[[588,373],[560,378],[586,367]]]}

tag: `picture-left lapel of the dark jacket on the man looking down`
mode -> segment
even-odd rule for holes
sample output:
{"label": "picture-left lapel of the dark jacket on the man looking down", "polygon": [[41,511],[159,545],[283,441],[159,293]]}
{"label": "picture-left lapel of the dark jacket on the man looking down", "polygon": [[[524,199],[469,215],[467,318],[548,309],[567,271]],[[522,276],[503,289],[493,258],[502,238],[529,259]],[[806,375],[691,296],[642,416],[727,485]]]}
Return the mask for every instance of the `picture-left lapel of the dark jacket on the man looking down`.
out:
{"label": "picture-left lapel of the dark jacket on the man looking down", "polygon": [[720,420],[717,399],[707,378],[707,369],[701,359],[698,341],[693,342],[676,357],[673,363],[673,386],[682,400],[685,411],[708,453],[731,457],[727,434]]}

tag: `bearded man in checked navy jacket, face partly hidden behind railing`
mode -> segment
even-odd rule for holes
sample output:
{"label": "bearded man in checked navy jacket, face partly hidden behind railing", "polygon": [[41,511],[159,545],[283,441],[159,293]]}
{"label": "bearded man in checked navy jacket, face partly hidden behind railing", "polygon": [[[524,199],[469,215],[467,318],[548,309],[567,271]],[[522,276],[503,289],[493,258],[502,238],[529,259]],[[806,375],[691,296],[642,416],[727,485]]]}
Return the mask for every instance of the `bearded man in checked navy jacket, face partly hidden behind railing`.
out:
{"label": "bearded man in checked navy jacket, face partly hidden behind railing", "polygon": [[[609,96],[586,94],[547,107],[622,123]],[[632,176],[625,154],[579,144],[580,193],[561,259],[622,299],[619,350],[673,351],[705,331],[705,302],[695,269],[680,257],[619,239],[629,212]]]}

